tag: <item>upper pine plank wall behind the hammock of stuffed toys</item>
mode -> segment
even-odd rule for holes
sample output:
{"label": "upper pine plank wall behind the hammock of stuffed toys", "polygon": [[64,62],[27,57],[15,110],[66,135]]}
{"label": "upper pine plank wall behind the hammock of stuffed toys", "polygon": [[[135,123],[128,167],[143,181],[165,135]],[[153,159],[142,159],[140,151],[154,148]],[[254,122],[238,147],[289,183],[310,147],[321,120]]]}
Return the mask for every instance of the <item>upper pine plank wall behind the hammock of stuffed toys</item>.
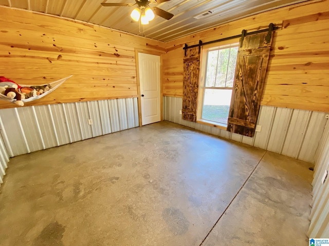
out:
{"label": "upper pine plank wall behind the hammock of stuffed toys", "polygon": [[[135,48],[161,42],[95,25],[0,7],[0,76],[45,84],[74,76],[27,106],[137,97]],[[163,52],[163,48],[162,48]],[[0,101],[0,109],[15,107]]]}

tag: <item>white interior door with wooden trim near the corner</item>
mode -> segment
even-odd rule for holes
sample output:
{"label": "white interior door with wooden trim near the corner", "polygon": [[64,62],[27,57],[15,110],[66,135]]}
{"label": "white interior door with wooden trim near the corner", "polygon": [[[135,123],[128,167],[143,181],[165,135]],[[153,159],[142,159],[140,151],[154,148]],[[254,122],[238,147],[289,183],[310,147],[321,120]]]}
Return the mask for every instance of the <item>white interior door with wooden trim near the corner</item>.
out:
{"label": "white interior door with wooden trim near the corner", "polygon": [[138,53],[142,125],[161,120],[160,56]]}

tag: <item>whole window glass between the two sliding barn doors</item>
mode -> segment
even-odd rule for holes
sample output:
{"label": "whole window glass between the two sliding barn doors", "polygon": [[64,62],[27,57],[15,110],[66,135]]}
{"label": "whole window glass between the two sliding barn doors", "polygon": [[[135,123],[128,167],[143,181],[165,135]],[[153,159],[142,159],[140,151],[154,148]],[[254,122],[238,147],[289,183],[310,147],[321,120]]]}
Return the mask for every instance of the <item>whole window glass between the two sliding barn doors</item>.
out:
{"label": "whole window glass between the two sliding barn doors", "polygon": [[227,126],[230,109],[237,45],[206,50],[201,120]]}

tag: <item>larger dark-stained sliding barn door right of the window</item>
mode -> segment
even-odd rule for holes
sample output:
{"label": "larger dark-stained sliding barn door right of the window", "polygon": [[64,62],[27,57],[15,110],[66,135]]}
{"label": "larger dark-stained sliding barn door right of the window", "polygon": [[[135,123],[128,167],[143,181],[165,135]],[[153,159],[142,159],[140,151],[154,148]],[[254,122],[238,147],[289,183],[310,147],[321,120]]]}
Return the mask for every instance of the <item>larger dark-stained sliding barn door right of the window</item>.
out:
{"label": "larger dark-stained sliding barn door right of the window", "polygon": [[271,43],[272,35],[268,33],[246,36],[240,41],[227,125],[230,132],[254,135]]}

